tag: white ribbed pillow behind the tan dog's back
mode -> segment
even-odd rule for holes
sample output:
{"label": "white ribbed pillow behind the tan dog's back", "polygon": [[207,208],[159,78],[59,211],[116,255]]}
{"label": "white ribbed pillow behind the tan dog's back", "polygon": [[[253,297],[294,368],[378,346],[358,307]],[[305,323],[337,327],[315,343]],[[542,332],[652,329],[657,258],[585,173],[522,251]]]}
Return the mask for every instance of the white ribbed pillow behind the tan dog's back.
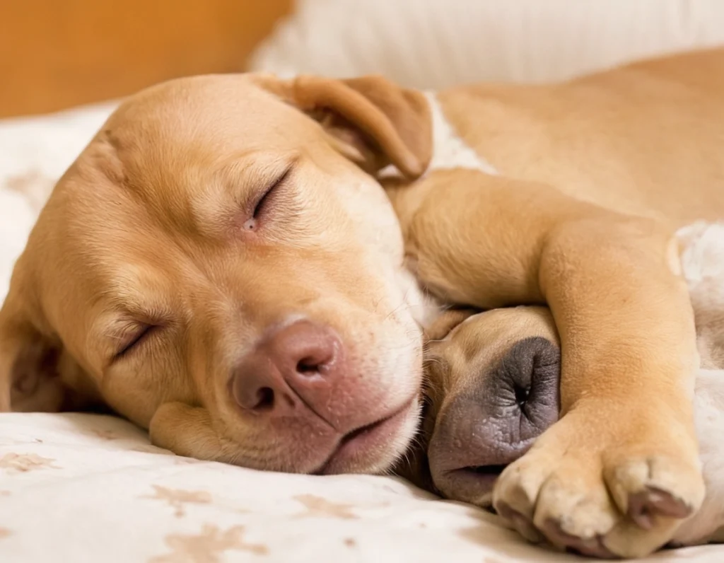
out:
{"label": "white ribbed pillow behind the tan dog's back", "polygon": [[724,43],[720,0],[298,0],[252,70],[416,88],[568,78]]}

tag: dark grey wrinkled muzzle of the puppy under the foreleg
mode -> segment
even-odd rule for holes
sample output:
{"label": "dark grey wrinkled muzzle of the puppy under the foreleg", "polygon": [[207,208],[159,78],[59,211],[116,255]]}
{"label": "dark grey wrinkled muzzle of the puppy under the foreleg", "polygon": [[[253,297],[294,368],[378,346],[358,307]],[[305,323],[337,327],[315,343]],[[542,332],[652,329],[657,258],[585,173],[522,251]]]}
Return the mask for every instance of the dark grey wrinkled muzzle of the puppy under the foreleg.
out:
{"label": "dark grey wrinkled muzzle of the puppy under the foreleg", "polygon": [[503,468],[558,418],[560,351],[545,338],[526,338],[469,379],[435,421],[430,471],[448,499],[487,506]]}

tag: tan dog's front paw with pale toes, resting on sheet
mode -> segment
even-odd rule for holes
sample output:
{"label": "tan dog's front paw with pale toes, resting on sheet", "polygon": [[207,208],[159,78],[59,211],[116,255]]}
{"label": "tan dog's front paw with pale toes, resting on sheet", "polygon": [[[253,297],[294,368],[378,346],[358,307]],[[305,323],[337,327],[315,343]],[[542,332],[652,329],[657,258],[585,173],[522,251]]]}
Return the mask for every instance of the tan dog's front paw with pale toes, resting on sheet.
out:
{"label": "tan dog's front paw with pale toes, resting on sheet", "polygon": [[581,422],[563,417],[502,472],[497,512],[529,541],[587,556],[640,557],[664,546],[704,497],[696,448],[581,440]]}

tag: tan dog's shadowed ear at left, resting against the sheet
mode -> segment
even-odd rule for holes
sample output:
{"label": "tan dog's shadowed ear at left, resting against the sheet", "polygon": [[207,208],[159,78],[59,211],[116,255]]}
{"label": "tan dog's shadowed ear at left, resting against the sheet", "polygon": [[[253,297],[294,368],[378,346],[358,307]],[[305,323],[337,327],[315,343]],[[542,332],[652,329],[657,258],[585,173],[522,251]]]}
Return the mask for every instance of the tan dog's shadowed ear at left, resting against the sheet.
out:
{"label": "tan dog's shadowed ear at left, resting against the sheet", "polygon": [[16,282],[0,309],[0,412],[82,408],[88,396],[69,382],[87,378],[59,339],[43,328],[28,288],[20,289]]}

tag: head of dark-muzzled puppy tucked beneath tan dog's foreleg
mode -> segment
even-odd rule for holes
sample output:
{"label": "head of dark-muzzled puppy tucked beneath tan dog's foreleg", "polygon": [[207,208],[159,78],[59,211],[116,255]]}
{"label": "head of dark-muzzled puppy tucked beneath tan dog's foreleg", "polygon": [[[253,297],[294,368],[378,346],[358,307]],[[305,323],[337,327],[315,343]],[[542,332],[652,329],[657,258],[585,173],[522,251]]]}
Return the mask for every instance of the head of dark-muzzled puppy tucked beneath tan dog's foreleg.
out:
{"label": "head of dark-muzzled puppy tucked beneath tan dog's foreleg", "polygon": [[[439,322],[447,330],[461,319],[449,312]],[[424,431],[444,496],[491,504],[503,467],[557,420],[559,350],[550,311],[535,306],[473,314],[429,343]]]}

